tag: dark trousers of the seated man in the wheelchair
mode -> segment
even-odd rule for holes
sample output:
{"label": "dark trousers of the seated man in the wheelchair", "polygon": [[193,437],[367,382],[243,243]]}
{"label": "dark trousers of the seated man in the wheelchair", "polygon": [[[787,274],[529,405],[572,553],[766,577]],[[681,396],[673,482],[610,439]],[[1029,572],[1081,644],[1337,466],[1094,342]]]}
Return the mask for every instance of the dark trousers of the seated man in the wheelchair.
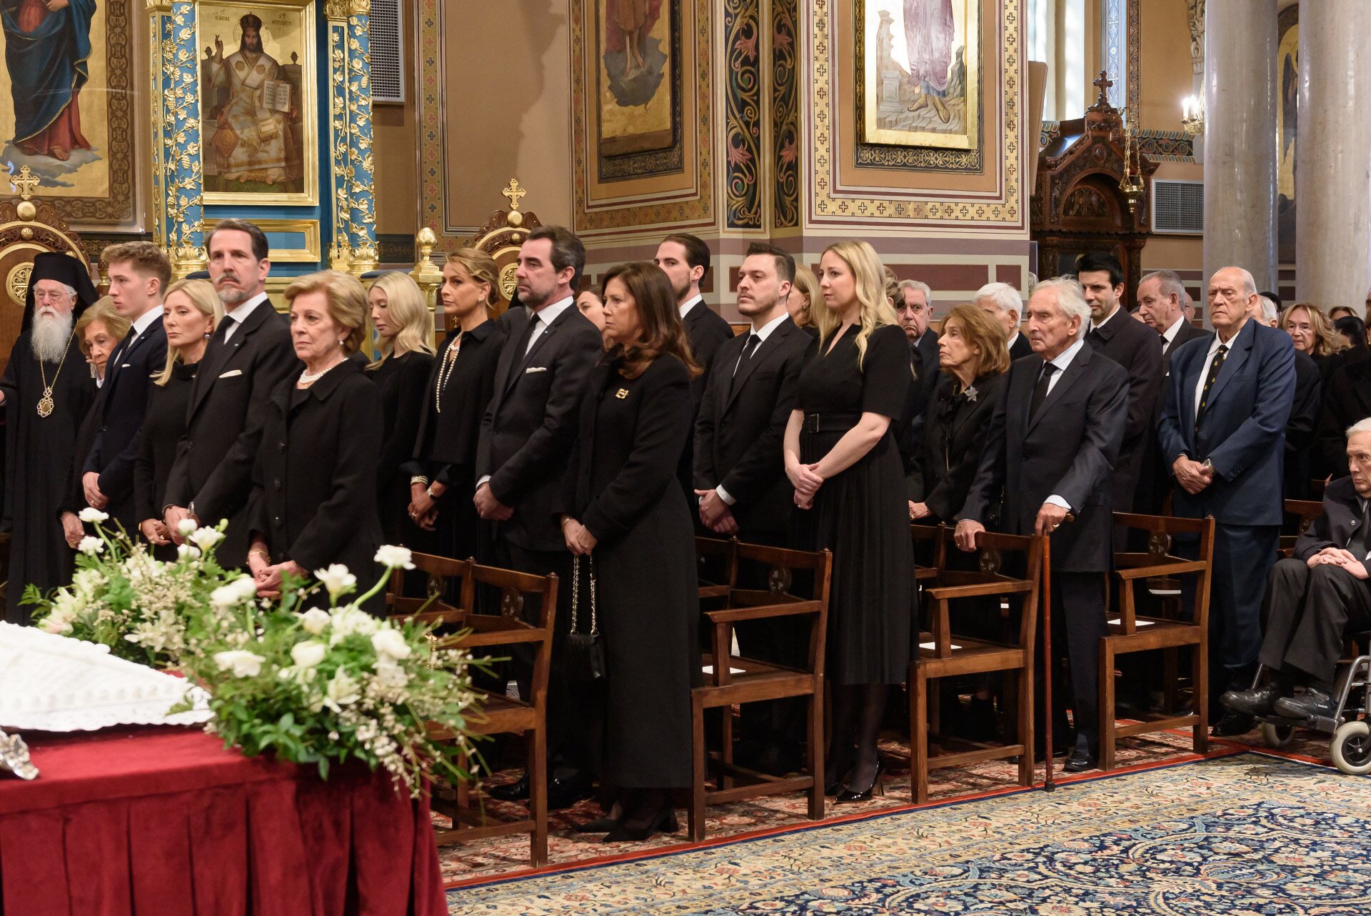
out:
{"label": "dark trousers of the seated man in the wheelchair", "polygon": [[1371,580],[1339,566],[1309,568],[1302,559],[1279,561],[1268,579],[1261,664],[1286,675],[1302,673],[1327,688],[1348,627],[1371,623]]}

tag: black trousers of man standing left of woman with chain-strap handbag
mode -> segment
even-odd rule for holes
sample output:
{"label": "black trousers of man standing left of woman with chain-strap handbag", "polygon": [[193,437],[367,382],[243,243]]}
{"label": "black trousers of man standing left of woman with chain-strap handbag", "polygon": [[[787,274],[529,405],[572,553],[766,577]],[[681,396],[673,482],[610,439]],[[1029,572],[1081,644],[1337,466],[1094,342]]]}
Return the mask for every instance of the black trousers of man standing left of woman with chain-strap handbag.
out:
{"label": "black trousers of man standing left of woman with chain-strap handbag", "polygon": [[[594,775],[599,772],[603,742],[605,697],[595,684],[570,682],[562,658],[566,634],[572,625],[572,554],[565,550],[525,550],[500,542],[509,557],[509,568],[515,572],[557,576],[557,620],[553,627],[553,658],[547,676],[547,760],[548,775],[558,767]],[[581,564],[583,580],[588,576]],[[584,584],[581,586],[585,587]],[[588,592],[587,592],[588,594]],[[537,623],[539,605],[524,602],[524,620]],[[590,618],[580,621],[583,632],[590,629]],[[511,646],[513,671],[520,690],[532,680],[533,655],[528,644]],[[520,651],[524,650],[524,651]]]}

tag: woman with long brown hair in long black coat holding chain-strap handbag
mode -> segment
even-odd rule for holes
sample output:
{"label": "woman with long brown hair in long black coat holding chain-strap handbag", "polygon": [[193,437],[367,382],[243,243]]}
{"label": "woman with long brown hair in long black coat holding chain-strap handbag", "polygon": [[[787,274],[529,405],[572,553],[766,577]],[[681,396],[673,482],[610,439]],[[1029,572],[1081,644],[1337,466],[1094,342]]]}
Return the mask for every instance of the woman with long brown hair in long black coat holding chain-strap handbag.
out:
{"label": "woman with long brown hair in long black coat holding chain-strap handbag", "polygon": [[[617,794],[618,817],[605,824],[614,842],[676,830],[670,790],[691,784],[699,583],[694,514],[676,465],[699,370],[658,267],[611,269],[603,299],[611,348],[581,400],[562,533],[596,576],[607,660],[600,780]],[[580,605],[584,632],[590,602]]]}

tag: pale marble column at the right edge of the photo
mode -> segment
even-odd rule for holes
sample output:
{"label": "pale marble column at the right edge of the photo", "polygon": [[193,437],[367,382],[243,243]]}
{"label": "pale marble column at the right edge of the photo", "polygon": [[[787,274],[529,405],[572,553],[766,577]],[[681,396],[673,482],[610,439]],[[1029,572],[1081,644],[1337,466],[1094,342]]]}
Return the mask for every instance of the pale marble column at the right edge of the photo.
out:
{"label": "pale marble column at the right edge of the photo", "polygon": [[1368,32],[1366,0],[1300,3],[1296,298],[1359,313],[1371,285]]}

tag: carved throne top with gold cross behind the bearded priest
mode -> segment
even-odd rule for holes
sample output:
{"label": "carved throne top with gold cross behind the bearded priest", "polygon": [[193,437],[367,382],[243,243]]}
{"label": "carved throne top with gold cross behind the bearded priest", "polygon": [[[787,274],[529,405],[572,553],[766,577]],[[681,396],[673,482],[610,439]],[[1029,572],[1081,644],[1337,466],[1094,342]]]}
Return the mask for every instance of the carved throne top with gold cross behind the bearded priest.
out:
{"label": "carved throne top with gold cross behind the bearded priest", "polygon": [[29,166],[11,176],[10,185],[19,196],[0,200],[0,373],[4,373],[10,350],[19,339],[33,258],[44,251],[56,251],[75,258],[86,270],[90,269],[81,252],[81,237],[58,215],[52,204],[33,200],[38,177]]}

